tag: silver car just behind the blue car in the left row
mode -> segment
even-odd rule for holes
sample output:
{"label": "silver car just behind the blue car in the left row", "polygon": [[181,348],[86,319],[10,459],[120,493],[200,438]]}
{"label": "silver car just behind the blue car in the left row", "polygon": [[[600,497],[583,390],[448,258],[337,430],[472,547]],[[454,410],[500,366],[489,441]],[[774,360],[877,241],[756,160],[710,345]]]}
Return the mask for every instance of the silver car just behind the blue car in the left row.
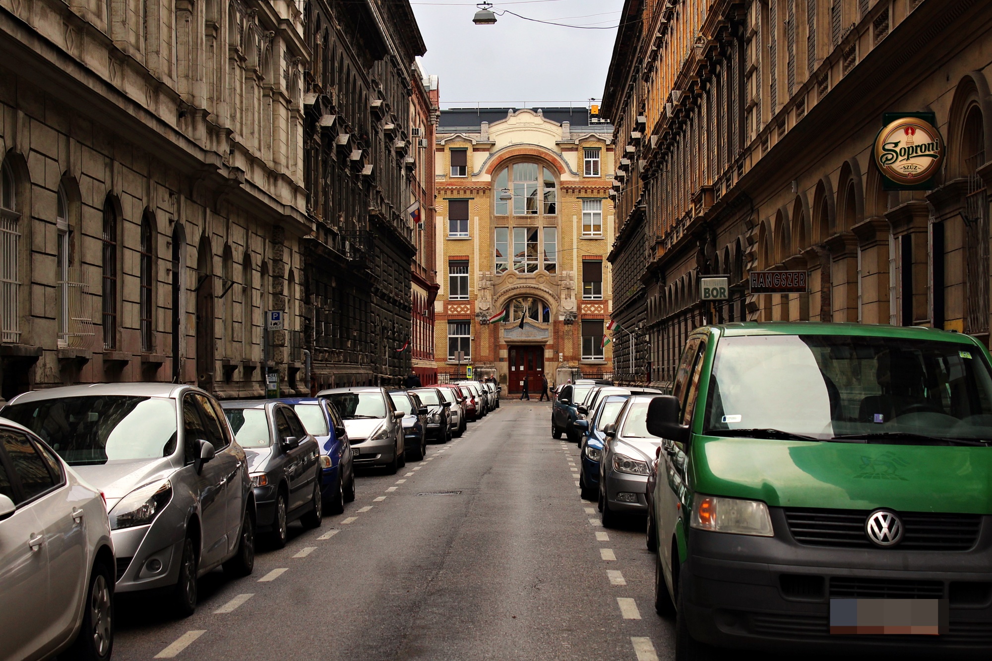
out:
{"label": "silver car just behind the blue car in the left row", "polygon": [[351,442],[355,467],[384,466],[395,473],[407,464],[404,456],[403,411],[385,388],[352,386],[321,390],[344,419],[344,429]]}

